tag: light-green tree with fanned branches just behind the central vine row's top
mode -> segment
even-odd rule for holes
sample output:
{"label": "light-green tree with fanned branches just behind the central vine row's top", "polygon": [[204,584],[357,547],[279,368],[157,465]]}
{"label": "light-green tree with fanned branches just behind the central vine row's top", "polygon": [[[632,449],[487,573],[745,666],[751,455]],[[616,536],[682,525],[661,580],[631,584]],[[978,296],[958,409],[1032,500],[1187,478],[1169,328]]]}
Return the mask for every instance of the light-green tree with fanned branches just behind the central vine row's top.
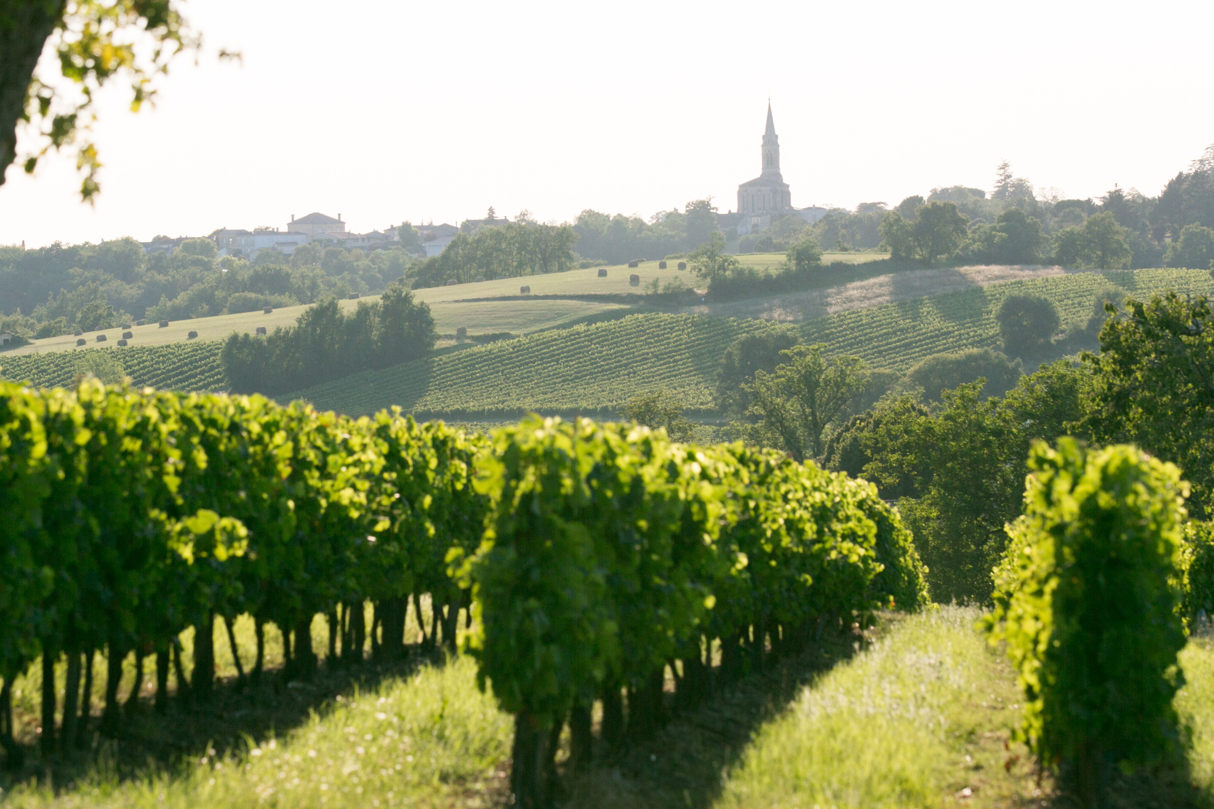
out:
{"label": "light-green tree with fanned branches just behind the central vine row's top", "polygon": [[822,455],[822,432],[843,406],[864,387],[864,360],[858,357],[826,359],[824,343],[795,346],[781,352],[789,361],[775,374],[755,371],[750,414],[798,461]]}

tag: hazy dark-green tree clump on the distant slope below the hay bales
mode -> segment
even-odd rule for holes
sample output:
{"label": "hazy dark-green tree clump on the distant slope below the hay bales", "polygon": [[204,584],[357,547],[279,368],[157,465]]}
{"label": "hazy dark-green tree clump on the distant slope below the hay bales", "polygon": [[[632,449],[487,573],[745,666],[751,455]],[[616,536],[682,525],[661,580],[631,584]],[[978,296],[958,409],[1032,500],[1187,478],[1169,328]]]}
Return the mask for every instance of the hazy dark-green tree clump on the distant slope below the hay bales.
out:
{"label": "hazy dark-green tree clump on the distant slope below the hay bales", "polygon": [[221,358],[232,391],[282,395],[424,357],[436,340],[430,307],[398,281],[350,314],[330,298],[268,336],[233,334]]}

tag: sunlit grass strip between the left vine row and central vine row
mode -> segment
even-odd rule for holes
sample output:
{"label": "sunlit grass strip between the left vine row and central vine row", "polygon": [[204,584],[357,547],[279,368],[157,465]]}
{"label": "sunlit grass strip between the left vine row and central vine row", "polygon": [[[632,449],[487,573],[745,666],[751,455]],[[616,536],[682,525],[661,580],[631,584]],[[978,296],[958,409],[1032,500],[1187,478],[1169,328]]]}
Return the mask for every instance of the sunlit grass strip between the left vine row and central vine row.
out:
{"label": "sunlit grass strip between the left vine row and central vine row", "polygon": [[339,697],[300,728],[185,773],[119,781],[104,765],[57,799],[18,787],[6,807],[486,805],[505,777],[512,723],[458,659]]}

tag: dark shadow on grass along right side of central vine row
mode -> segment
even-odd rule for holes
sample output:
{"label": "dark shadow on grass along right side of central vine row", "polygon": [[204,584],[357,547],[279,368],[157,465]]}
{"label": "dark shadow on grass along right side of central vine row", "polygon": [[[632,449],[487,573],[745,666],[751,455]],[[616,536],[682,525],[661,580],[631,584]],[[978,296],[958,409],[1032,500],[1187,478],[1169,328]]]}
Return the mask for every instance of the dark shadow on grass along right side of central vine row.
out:
{"label": "dark shadow on grass along right side of central vine row", "polygon": [[802,686],[872,639],[860,633],[824,636],[801,654],[768,665],[766,673],[719,689],[700,707],[675,714],[663,730],[622,754],[613,756],[596,737],[595,764],[584,776],[566,781],[563,805],[711,807],[759,727],[782,713]]}

